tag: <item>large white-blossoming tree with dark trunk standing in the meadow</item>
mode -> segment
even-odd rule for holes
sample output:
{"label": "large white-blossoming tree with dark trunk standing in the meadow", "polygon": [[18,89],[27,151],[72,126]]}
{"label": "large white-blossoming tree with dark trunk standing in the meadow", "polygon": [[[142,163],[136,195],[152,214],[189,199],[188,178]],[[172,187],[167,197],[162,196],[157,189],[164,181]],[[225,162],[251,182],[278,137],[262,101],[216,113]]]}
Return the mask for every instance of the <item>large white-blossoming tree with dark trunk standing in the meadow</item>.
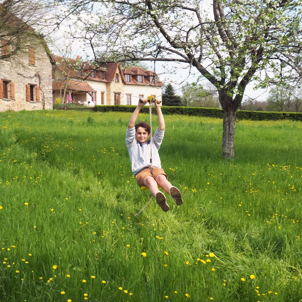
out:
{"label": "large white-blossoming tree with dark trunk standing in the meadow", "polygon": [[86,41],[98,64],[177,61],[215,85],[223,109],[223,158],[234,157],[236,111],[246,85],[300,78],[299,0],[212,0],[211,12],[199,0],[59,2],[76,14],[80,30],[74,37]]}

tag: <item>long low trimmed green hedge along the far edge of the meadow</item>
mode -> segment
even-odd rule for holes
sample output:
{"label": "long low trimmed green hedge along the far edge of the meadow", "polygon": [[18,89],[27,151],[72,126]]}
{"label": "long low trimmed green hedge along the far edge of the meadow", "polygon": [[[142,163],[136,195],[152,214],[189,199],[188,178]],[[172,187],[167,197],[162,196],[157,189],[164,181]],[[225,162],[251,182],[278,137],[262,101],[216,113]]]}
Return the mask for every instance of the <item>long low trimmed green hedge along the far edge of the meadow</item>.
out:
{"label": "long low trimmed green hedge along the far edge of the meadow", "polygon": [[[133,112],[136,106],[129,105],[98,105],[93,111],[108,112]],[[220,108],[202,108],[202,107],[178,107],[178,106],[162,106],[163,114],[181,114],[195,115],[205,117],[223,118],[222,109]],[[145,106],[141,112],[149,113],[149,107]],[[154,112],[154,110],[153,110]],[[246,111],[238,110],[236,118],[239,120],[299,120],[302,121],[302,113],[299,112],[268,112],[268,111]]]}

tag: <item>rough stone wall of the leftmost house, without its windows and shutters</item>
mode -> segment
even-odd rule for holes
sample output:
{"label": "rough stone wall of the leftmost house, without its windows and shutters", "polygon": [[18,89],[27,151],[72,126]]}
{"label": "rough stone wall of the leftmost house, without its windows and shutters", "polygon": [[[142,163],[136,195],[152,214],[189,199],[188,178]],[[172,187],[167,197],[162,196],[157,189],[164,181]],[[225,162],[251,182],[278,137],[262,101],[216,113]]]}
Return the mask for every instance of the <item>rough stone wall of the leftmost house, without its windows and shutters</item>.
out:
{"label": "rough stone wall of the leftmost house, without its windows and shutters", "polygon": [[[14,83],[14,99],[11,99],[9,89],[8,98],[0,98],[0,111],[52,109],[51,63],[42,44],[35,49],[35,65],[29,64],[28,52],[19,53],[9,60],[0,60],[0,80]],[[37,101],[36,88],[34,101],[26,100],[28,84],[40,87],[40,101]]]}

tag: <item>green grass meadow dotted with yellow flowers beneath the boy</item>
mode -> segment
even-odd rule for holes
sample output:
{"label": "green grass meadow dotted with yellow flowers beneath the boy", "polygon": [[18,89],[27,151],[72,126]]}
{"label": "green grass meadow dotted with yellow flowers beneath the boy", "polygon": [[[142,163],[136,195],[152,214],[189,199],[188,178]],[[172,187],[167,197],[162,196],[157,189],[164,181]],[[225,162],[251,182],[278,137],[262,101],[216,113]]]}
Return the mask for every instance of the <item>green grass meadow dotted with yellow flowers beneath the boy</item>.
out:
{"label": "green grass meadow dotted with yellow flowers beneath the boy", "polygon": [[222,120],[165,116],[184,203],[134,217],[129,118],[0,114],[0,301],[301,301],[302,123],[240,120],[223,161]]}

